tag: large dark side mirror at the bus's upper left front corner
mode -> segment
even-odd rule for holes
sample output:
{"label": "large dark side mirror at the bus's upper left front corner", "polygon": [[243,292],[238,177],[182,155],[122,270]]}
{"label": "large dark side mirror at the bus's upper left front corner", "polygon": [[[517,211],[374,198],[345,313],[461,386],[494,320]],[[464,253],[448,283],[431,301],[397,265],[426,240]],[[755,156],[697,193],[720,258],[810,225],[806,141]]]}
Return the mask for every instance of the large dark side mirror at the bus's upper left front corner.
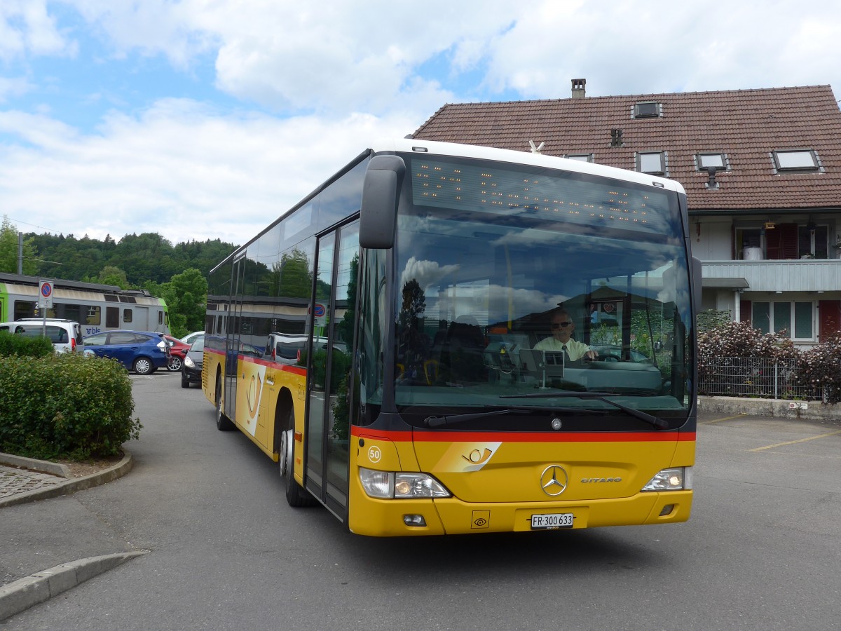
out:
{"label": "large dark side mirror at the bus's upper left front corner", "polygon": [[359,245],[375,250],[394,247],[397,202],[406,165],[399,156],[373,156],[362,184]]}

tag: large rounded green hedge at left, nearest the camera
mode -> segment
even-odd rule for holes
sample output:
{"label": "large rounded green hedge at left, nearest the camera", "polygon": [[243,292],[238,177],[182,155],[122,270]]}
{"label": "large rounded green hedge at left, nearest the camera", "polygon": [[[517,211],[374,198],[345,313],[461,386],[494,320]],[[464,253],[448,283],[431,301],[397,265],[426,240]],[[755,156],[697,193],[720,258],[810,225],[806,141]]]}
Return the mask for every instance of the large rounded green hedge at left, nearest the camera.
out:
{"label": "large rounded green hedge at left, nearest the camera", "polygon": [[128,372],[78,353],[0,357],[0,451],[40,459],[120,453],[140,436]]}

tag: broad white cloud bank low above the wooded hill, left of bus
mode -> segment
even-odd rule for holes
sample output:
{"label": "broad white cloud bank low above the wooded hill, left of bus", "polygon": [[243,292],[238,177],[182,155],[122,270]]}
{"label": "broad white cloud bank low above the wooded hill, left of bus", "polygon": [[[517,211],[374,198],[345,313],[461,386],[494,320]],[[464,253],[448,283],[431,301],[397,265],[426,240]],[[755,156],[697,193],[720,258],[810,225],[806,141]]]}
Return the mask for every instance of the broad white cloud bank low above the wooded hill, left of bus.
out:
{"label": "broad white cloud bank low above the wooded hill, left of bus", "polygon": [[0,199],[5,214],[54,232],[242,243],[373,136],[413,125],[366,114],[225,116],[171,99],[138,118],[111,114],[98,135],[80,135],[54,119],[0,112],[0,133],[19,137],[0,148]]}

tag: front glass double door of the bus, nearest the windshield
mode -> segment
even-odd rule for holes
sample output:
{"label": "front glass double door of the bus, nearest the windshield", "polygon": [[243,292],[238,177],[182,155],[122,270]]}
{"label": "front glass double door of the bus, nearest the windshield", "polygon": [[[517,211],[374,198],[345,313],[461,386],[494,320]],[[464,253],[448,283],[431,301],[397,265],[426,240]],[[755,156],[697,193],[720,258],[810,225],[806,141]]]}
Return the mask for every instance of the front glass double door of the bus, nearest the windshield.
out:
{"label": "front glass double door of the bus, nearest the windshield", "polygon": [[[336,247],[338,244],[338,247]],[[306,486],[336,515],[347,511],[350,396],[359,223],[318,242],[309,395]]]}

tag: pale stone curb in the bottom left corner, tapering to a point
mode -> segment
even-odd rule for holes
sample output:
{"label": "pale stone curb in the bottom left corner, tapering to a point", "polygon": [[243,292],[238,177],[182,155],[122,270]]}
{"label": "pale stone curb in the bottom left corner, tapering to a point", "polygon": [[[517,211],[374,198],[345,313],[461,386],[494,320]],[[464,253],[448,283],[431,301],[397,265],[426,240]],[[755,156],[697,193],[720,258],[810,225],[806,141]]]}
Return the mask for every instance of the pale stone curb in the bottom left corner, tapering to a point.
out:
{"label": "pale stone curb in the bottom left corner, tapering to a point", "polygon": [[0,586],[0,621],[148,552],[140,550],[79,559]]}

